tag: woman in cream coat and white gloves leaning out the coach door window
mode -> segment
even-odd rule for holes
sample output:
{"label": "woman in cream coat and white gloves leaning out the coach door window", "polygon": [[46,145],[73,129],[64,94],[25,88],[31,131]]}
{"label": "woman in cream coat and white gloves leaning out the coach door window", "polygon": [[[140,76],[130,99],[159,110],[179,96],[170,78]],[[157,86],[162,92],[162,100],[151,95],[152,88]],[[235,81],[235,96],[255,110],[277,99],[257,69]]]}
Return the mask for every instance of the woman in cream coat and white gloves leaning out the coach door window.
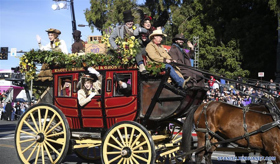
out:
{"label": "woman in cream coat and white gloves leaning out the coach door window", "polygon": [[93,78],[89,75],[85,75],[79,81],[80,84],[78,85],[81,86],[81,89],[78,90],[78,101],[81,106],[86,105],[95,95],[100,94],[98,90],[101,89],[102,76],[92,67],[88,68],[88,71],[89,73],[95,74],[98,80],[93,82]]}

